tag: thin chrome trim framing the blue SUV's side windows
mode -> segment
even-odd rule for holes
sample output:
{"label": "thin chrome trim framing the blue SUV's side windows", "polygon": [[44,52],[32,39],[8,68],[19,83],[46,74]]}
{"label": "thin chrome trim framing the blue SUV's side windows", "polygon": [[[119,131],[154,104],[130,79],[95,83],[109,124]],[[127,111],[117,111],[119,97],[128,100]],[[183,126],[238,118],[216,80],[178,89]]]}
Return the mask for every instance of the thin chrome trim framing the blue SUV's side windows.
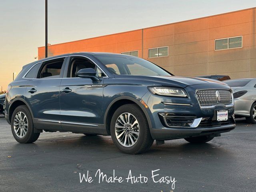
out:
{"label": "thin chrome trim framing the blue SUV's side windows", "polygon": [[[37,62],[36,64],[34,64],[25,74],[24,76],[22,76],[22,79],[38,79],[38,78],[26,78],[25,76],[28,74],[28,72],[30,72],[30,70],[36,66],[37,64],[40,64],[41,62],[46,62],[46,61],[50,61],[50,60],[53,60],[53,59],[59,59],[59,58],[65,58],[65,57],[73,57],[73,56],[80,56],[80,57],[85,57],[87,59],[89,59],[90,61],[92,61],[98,68],[100,68],[100,70],[102,70],[102,68],[96,64],[96,62],[94,62],[91,58],[87,57],[87,56],[84,56],[84,55],[69,55],[69,56],[60,56],[60,57],[56,57],[56,58],[51,58],[51,59],[48,59],[48,60],[44,60],[44,61],[40,61],[40,62]],[[106,74],[106,72],[104,70],[102,70],[102,72],[104,72],[104,74],[106,75],[106,77],[99,77],[99,78],[109,78],[108,75]],[[70,78],[81,78],[81,77],[63,77],[63,78],[40,78],[38,80],[50,80],[50,79],[70,79]]]}

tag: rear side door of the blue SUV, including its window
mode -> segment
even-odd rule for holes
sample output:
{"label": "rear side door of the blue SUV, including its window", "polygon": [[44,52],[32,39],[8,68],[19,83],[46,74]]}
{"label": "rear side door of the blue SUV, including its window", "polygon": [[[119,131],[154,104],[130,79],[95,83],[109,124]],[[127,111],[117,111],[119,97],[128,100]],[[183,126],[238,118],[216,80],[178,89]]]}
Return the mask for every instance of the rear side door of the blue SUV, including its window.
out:
{"label": "rear side door of the blue SUV, including its window", "polygon": [[60,82],[67,57],[36,64],[25,76],[25,100],[30,105],[38,129],[61,130]]}

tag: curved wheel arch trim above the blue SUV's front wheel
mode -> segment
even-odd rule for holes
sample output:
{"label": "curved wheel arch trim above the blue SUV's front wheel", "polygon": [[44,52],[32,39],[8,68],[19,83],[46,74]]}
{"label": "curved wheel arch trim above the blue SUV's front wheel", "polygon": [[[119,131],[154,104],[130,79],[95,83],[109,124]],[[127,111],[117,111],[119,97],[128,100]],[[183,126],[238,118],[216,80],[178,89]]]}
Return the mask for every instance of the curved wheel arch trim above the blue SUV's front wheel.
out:
{"label": "curved wheel arch trim above the blue SUV's front wheel", "polygon": [[144,114],[147,118],[149,128],[152,128],[152,122],[151,122],[150,116],[148,115],[148,112],[146,111],[145,107],[138,100],[136,100],[133,97],[120,96],[120,97],[112,100],[112,102],[110,102],[110,104],[108,105],[108,108],[106,109],[106,113],[104,115],[104,124],[106,125],[106,131],[109,135],[110,135],[110,122],[111,122],[110,117],[114,114],[114,112],[116,111],[116,109],[118,107],[120,107],[124,104],[138,105],[142,109],[142,111],[144,112]]}

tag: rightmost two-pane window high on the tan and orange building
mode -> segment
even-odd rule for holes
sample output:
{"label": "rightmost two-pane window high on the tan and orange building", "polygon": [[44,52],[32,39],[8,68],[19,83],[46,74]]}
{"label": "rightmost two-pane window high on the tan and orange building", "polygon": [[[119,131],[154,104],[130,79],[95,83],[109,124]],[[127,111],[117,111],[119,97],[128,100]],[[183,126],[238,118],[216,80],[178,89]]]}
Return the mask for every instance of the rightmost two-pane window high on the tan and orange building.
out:
{"label": "rightmost two-pane window high on the tan and orange building", "polygon": [[215,40],[215,50],[233,49],[242,47],[242,36]]}

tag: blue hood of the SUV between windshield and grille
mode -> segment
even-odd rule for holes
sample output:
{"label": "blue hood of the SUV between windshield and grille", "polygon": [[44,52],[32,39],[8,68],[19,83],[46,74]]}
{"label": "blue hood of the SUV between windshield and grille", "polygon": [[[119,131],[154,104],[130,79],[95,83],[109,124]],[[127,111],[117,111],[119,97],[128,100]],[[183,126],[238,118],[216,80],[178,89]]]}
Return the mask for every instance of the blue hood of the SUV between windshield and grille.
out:
{"label": "blue hood of the SUV between windshield and grille", "polygon": [[[133,75],[116,75],[115,78],[132,78],[140,80],[152,80],[162,85],[179,86],[185,88],[186,86],[196,85],[196,84],[222,84],[225,83],[207,79],[207,78],[190,78],[190,77],[181,77],[181,76],[133,76]],[[172,85],[173,84],[173,85]]]}

